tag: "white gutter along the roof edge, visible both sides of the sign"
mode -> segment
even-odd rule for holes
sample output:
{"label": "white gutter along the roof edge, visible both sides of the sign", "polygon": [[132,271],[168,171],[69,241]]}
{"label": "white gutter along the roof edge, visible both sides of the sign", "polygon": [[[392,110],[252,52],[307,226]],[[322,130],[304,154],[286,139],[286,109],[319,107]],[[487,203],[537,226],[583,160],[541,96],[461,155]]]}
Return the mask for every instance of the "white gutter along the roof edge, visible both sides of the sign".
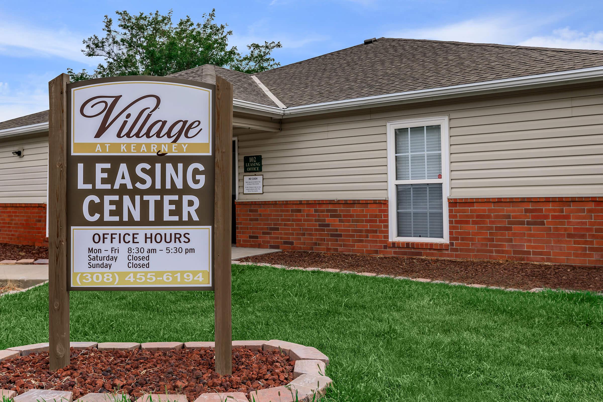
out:
{"label": "white gutter along the roof edge, visible both sides of the sign", "polygon": [[[240,99],[233,99],[233,108],[236,111],[242,111],[245,113],[271,116],[273,118],[288,118],[293,116],[317,115],[331,111],[456,98],[459,96],[505,92],[517,89],[588,83],[602,79],[603,66],[552,72],[548,74],[528,75],[526,77],[505,78],[504,80],[484,81],[482,83],[388,93],[387,95],[365,96],[364,98],[343,99],[341,101],[301,105],[284,109],[274,106],[260,105],[254,102],[241,101]],[[42,131],[48,131],[48,122],[0,130],[0,137],[39,133]]]}

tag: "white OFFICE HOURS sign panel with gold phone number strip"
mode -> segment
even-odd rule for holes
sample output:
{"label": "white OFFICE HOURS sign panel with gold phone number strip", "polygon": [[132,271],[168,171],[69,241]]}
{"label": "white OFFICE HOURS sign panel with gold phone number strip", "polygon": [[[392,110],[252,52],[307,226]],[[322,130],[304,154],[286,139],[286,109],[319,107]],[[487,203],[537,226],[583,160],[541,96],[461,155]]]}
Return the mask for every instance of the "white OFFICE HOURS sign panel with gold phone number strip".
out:
{"label": "white OFFICE HOURS sign panel with gold phone number strip", "polygon": [[211,227],[72,227],[72,286],[210,284]]}

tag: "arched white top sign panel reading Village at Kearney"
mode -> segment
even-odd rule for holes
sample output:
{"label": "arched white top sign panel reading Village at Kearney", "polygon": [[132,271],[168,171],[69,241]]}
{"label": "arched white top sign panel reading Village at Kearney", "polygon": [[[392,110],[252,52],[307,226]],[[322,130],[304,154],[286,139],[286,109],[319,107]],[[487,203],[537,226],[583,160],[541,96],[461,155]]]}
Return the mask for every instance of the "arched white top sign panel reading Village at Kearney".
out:
{"label": "arched white top sign panel reading Village at Kearney", "polygon": [[115,81],[71,90],[72,155],[210,155],[212,90]]}

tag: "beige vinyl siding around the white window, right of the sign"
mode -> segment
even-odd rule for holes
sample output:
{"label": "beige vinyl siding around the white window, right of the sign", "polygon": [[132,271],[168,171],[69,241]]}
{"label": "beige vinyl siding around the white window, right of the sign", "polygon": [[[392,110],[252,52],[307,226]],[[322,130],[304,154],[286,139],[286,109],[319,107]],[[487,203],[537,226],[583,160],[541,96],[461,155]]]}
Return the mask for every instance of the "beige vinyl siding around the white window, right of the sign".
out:
{"label": "beige vinyl siding around the white window, right of the sign", "polygon": [[[603,195],[603,86],[283,119],[239,134],[239,199],[387,198],[388,121],[449,116],[450,196]],[[243,195],[244,155],[264,194]]]}

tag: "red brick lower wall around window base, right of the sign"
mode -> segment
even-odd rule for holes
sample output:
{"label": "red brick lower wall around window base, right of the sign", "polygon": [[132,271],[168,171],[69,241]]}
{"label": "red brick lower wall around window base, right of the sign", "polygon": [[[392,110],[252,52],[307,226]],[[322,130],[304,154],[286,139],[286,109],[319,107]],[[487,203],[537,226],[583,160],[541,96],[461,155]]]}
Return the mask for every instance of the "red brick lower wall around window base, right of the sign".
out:
{"label": "red brick lower wall around window base, right of the sign", "polygon": [[603,197],[449,200],[450,243],[388,241],[385,200],[240,201],[237,245],[603,265]]}

